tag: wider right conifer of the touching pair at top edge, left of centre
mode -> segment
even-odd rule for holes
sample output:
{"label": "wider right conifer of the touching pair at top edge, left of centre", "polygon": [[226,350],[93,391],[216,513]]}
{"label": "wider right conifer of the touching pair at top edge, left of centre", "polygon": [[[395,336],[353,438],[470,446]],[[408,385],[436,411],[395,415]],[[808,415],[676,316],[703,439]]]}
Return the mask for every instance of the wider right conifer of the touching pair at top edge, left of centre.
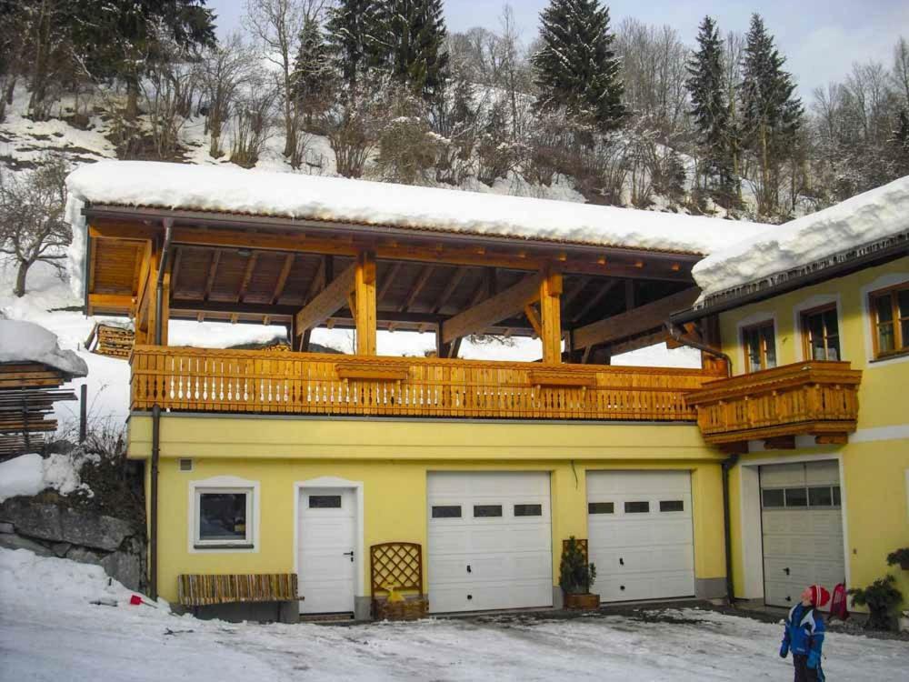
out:
{"label": "wider right conifer of the touching pair at top edge, left of centre", "polygon": [[391,0],[380,19],[386,46],[383,65],[396,81],[427,102],[440,94],[449,76],[442,0]]}

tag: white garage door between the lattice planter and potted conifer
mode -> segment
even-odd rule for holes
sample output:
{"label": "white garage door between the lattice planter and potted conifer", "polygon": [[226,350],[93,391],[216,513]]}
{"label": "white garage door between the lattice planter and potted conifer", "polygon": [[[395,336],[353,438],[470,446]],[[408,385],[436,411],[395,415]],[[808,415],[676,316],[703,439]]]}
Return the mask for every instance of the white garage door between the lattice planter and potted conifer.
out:
{"label": "white garage door between the lattice planter and potted conifer", "polygon": [[427,488],[432,612],[552,606],[548,473],[435,472]]}

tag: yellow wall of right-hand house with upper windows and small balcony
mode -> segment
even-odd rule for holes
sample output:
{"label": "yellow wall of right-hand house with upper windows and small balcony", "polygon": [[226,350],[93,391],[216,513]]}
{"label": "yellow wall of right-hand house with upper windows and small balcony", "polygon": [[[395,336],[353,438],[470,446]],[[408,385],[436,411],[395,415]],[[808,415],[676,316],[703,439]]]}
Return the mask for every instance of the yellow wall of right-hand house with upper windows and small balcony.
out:
{"label": "yellow wall of right-hand house with upper windows and small balcony", "polygon": [[[889,571],[897,578],[904,604],[909,604],[909,572],[886,565],[887,554],[909,547],[909,356],[874,361],[866,303],[869,291],[901,281],[909,281],[909,257],[729,311],[720,316],[720,327],[724,351],[733,357],[734,373],[741,374],[741,326],[773,318],[777,364],[787,365],[804,359],[798,311],[837,303],[843,359],[863,371],[856,433],[845,446],[812,446],[800,438],[794,451],[752,452],[742,462],[841,458],[849,587],[864,587]],[[745,580],[741,529],[754,519],[742,517],[737,474],[734,469],[730,476],[730,497],[733,577],[741,597]]]}

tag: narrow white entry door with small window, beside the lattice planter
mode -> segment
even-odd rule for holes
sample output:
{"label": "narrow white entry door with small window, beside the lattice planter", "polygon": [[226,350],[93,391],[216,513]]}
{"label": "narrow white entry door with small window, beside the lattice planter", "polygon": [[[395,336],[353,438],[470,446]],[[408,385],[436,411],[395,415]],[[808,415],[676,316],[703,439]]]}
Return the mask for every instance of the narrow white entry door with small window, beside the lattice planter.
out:
{"label": "narrow white entry door with small window, beside the lattice planter", "polygon": [[354,611],[356,496],[347,488],[300,491],[297,569],[301,613]]}

